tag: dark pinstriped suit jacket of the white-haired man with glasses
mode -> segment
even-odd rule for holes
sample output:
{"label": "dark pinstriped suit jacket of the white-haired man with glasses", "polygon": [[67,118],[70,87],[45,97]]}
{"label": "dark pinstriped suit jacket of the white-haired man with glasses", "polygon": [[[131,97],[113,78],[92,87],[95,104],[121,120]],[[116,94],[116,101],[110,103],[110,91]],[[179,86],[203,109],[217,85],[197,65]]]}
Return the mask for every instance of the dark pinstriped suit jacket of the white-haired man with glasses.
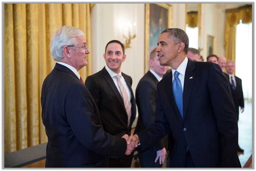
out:
{"label": "dark pinstriped suit jacket of the white-haired man with glasses", "polygon": [[41,104],[45,167],[106,167],[105,155],[124,155],[125,139],[104,132],[90,92],[69,68],[56,63],[43,82]]}

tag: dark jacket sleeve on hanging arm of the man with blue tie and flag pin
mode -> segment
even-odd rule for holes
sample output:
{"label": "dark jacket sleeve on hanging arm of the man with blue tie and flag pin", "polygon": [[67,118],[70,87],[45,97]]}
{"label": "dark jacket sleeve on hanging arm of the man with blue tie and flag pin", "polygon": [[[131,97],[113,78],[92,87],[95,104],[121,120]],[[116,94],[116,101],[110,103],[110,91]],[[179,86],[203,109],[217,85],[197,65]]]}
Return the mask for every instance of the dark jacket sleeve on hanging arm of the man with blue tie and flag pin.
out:
{"label": "dark jacket sleeve on hanging arm of the man with blue tie and flag pin", "polygon": [[219,65],[213,64],[209,69],[208,91],[220,137],[220,167],[234,167],[238,162],[237,116],[229,84]]}

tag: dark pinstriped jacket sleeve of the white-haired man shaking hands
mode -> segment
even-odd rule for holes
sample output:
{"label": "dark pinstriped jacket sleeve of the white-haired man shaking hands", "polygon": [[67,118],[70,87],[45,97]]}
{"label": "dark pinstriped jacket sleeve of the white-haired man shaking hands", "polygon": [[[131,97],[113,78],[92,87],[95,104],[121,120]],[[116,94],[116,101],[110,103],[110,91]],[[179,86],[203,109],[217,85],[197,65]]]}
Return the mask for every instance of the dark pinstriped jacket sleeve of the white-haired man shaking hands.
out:
{"label": "dark pinstriped jacket sleeve of the white-haired man shaking hands", "polygon": [[66,97],[65,111],[73,133],[87,149],[107,156],[124,155],[126,140],[104,132],[99,110],[84,85],[71,87]]}

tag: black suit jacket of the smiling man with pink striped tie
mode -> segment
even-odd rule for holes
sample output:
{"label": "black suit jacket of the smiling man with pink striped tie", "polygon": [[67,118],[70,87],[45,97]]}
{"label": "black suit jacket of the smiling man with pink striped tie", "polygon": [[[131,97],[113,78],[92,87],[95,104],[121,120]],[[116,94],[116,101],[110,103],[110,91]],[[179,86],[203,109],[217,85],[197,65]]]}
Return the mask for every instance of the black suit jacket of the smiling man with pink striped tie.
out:
{"label": "black suit jacket of the smiling man with pink striped tie", "polygon": [[131,124],[128,128],[128,116],[122,96],[105,67],[85,80],[85,85],[100,110],[109,134],[119,137],[131,134],[131,126],[136,117],[136,102],[131,88],[132,78],[124,73],[122,76],[132,94]]}

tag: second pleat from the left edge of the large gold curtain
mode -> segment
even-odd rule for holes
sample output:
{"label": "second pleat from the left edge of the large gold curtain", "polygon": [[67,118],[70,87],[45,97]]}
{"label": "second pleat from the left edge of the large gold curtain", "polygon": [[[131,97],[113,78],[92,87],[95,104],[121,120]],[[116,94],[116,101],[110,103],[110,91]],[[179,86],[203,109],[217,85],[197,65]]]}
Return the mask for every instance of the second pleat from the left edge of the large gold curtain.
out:
{"label": "second pleat from the left edge of the large gold curtain", "polygon": [[[27,95],[26,95],[26,25],[22,24],[26,16],[22,4],[14,4],[14,70],[17,120],[17,150],[27,148]],[[22,14],[22,15],[20,15]]]}

